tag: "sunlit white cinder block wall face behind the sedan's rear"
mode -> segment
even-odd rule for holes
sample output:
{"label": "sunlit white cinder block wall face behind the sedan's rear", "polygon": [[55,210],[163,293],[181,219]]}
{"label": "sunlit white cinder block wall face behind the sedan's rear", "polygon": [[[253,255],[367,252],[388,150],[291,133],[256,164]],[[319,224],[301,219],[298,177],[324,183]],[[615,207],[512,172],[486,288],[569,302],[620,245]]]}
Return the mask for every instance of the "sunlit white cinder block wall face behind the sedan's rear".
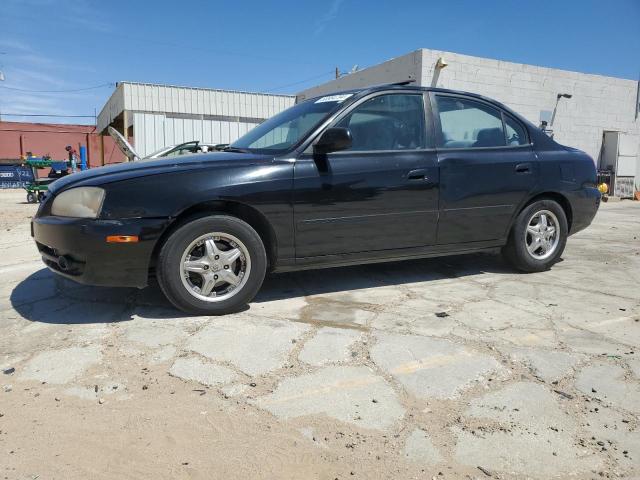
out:
{"label": "sunlit white cinder block wall face behind the sedan's rear", "polygon": [[[552,111],[560,99],[553,129],[555,139],[586,151],[597,161],[602,132],[625,132],[640,144],[640,119],[635,118],[637,82],[590,75],[489,58],[422,49],[420,84],[432,83],[435,65],[444,57],[448,66],[440,71],[436,86],[486,95],[511,107],[535,125],[540,111]],[[640,159],[636,161],[636,182],[640,181]]]}

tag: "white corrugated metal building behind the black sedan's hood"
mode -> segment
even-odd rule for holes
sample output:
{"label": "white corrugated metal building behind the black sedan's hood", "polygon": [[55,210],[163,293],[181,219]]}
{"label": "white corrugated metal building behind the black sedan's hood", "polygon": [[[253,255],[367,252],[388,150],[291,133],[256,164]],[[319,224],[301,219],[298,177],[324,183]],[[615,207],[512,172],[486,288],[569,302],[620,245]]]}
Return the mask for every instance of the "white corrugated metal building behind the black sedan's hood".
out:
{"label": "white corrugated metal building behind the black sedan's hood", "polygon": [[230,143],[294,103],[289,95],[118,82],[97,130],[112,125],[127,132],[144,156],[192,140]]}

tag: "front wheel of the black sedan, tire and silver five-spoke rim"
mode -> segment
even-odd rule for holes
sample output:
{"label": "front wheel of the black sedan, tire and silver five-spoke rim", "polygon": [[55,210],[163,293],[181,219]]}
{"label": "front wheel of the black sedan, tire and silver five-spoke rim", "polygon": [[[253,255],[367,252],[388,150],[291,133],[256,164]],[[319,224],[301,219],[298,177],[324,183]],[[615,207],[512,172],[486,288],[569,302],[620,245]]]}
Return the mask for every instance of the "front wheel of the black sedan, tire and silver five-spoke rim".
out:
{"label": "front wheel of the black sedan, tire and silver five-spoke rim", "polygon": [[248,223],[228,215],[200,217],[180,226],[162,246],[156,268],[167,299],[197,315],[239,311],[260,290],[266,270],[260,236]]}

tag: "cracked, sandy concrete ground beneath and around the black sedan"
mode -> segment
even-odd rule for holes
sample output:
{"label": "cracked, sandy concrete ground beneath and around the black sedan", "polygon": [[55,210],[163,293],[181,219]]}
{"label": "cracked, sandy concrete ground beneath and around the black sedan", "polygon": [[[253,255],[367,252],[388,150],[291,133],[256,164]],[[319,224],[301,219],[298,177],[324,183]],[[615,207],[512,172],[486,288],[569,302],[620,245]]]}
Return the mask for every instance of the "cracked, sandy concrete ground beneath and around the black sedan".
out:
{"label": "cracked, sandy concrete ground beneath and around the black sedan", "polygon": [[640,478],[640,204],[550,271],[267,278],[242,313],[43,269],[0,192],[0,478]]}

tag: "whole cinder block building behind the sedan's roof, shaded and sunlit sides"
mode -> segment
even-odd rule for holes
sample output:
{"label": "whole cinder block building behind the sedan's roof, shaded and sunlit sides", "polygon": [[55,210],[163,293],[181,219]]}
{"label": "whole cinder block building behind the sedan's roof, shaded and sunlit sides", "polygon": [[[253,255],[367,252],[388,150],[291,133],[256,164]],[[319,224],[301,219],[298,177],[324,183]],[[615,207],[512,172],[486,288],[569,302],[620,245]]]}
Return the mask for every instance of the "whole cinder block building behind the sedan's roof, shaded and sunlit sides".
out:
{"label": "whole cinder block building behind the sedan's roof, shaded and sunlit sides", "polygon": [[[442,60],[439,60],[442,59]],[[299,100],[386,83],[410,83],[479,93],[534,124],[556,110],[554,138],[612,167],[615,194],[640,189],[638,81],[419,49],[298,93]],[[558,94],[569,94],[571,98]]]}

